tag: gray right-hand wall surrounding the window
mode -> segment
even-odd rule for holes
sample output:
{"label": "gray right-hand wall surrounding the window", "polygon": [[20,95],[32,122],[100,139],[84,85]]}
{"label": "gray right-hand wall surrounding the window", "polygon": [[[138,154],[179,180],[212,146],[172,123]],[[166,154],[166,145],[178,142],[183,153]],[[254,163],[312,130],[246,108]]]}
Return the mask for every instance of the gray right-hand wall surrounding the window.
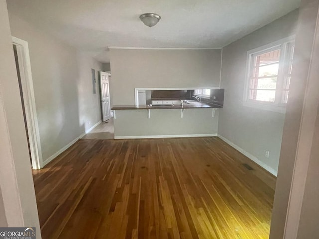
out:
{"label": "gray right-hand wall surrounding the window", "polygon": [[[221,88],[225,88],[218,134],[277,171],[285,114],[242,104],[247,51],[293,35],[298,10],[223,48]],[[269,158],[265,150],[270,151]]]}

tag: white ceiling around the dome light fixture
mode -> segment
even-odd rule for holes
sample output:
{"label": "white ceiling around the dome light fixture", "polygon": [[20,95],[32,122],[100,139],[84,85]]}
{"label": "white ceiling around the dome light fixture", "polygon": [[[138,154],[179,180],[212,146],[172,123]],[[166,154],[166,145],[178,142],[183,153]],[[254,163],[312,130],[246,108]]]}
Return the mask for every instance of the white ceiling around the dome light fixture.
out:
{"label": "white ceiling around the dome light fixture", "polygon": [[[107,47],[220,48],[300,0],[7,0],[9,12],[108,62]],[[148,28],[139,15],[162,17]]]}

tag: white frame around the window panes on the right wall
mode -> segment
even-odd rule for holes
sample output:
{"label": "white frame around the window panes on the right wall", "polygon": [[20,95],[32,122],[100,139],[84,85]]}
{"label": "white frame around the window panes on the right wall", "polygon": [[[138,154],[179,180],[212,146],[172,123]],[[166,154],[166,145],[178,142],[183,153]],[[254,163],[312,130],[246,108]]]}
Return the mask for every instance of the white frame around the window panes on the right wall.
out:
{"label": "white frame around the window panes on the right wall", "polygon": [[[282,102],[282,92],[283,92],[283,84],[284,84],[284,61],[287,58],[287,46],[289,44],[294,43],[295,36],[290,36],[287,38],[283,38],[281,40],[272,42],[270,44],[249,50],[247,52],[247,60],[246,60],[246,74],[245,74],[245,87],[244,87],[244,97],[243,97],[243,106],[253,107],[268,111],[274,111],[279,113],[286,112],[286,103]],[[250,85],[250,73],[252,69],[252,58],[256,54],[263,54],[266,52],[270,52],[272,50],[281,49],[280,59],[279,59],[279,70],[277,76],[276,83],[276,93],[275,93],[275,102],[266,102],[266,101],[257,101],[249,99],[249,85]]]}

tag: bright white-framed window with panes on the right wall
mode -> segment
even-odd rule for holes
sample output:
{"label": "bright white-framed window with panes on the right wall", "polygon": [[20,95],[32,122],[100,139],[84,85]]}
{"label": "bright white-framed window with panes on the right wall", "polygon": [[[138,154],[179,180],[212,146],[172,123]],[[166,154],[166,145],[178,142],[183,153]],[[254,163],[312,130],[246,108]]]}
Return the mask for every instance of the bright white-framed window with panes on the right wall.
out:
{"label": "bright white-framed window with panes on the right wall", "polygon": [[289,94],[294,42],[286,38],[247,53],[244,105],[284,112]]}

